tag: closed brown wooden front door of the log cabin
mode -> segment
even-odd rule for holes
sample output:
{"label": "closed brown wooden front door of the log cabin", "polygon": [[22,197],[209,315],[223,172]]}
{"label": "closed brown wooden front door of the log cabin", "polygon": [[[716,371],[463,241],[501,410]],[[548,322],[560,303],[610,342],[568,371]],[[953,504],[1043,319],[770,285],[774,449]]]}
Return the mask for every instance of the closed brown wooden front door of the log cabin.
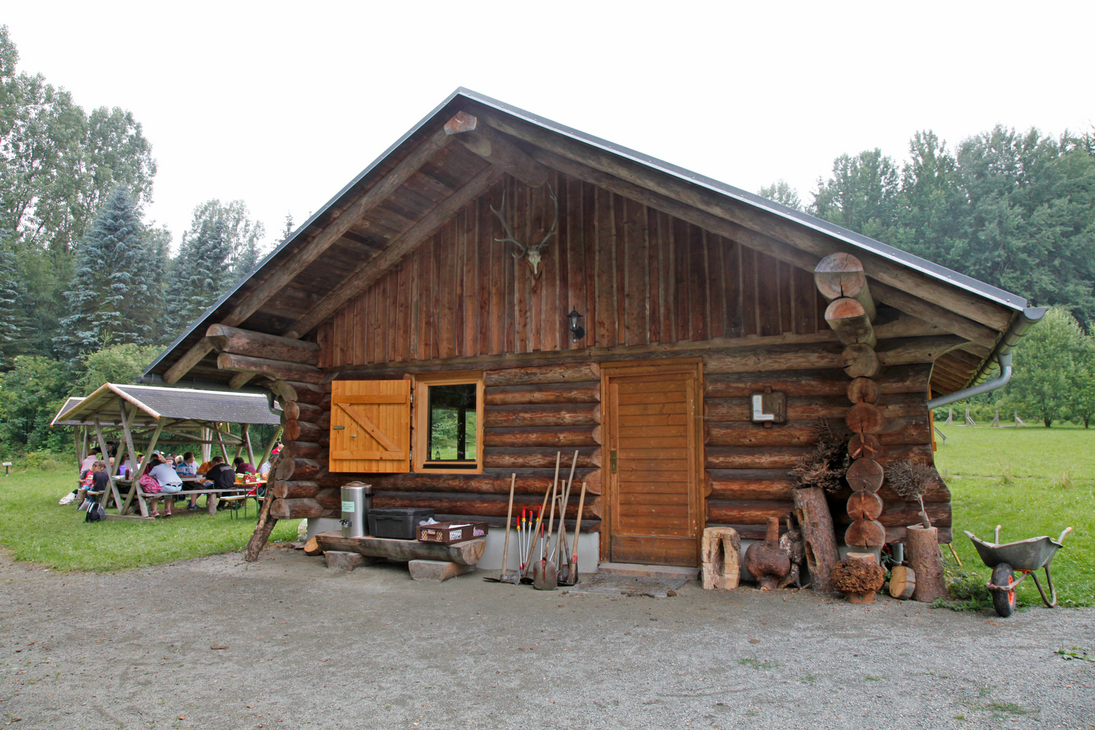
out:
{"label": "closed brown wooden front door of the log cabin", "polygon": [[607,554],[612,563],[699,565],[703,522],[700,364],[602,366]]}

